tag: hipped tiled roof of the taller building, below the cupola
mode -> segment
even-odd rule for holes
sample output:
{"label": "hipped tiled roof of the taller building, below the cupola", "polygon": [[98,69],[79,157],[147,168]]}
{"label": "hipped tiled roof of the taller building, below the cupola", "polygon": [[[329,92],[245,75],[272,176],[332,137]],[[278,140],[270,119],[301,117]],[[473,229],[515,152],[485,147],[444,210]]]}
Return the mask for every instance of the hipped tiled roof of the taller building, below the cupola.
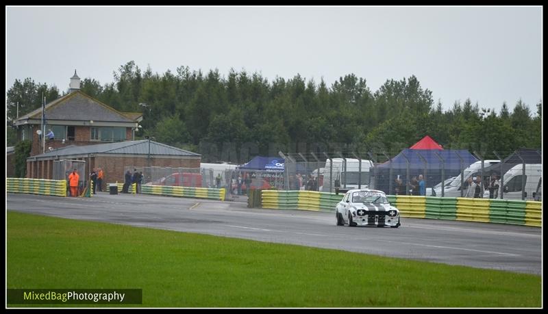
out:
{"label": "hipped tiled roof of the taller building, below the cupola", "polygon": [[[132,115],[134,115],[132,113]],[[116,109],[101,103],[97,99],[84,94],[82,91],[71,92],[45,105],[46,120],[76,120],[98,122],[132,122],[133,116],[118,112]],[[28,119],[42,119],[42,108],[38,108],[17,121]]]}

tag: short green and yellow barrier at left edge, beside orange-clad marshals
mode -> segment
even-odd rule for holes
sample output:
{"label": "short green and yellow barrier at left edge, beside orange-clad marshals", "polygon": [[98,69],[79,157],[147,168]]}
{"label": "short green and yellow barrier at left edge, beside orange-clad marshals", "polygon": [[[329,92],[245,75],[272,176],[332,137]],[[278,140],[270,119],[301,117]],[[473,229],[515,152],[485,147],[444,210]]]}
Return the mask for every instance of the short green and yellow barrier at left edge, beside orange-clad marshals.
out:
{"label": "short green and yellow barrier at left edge, beside orange-clad marshals", "polygon": [[5,192],[66,197],[66,181],[27,178],[6,178]]}

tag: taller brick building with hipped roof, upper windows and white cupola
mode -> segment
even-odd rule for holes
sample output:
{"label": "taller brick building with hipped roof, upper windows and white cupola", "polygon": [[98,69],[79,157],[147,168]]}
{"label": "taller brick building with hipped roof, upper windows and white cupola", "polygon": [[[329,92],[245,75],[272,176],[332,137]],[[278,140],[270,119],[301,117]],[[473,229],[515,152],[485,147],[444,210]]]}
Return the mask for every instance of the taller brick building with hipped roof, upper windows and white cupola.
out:
{"label": "taller brick building with hipped roof, upper windows and white cupola", "polygon": [[71,145],[134,140],[142,114],[118,112],[79,88],[80,79],[75,71],[69,94],[45,105],[45,134],[51,130],[52,139],[46,137],[42,141],[41,107],[16,119],[18,140],[32,141],[31,156]]}

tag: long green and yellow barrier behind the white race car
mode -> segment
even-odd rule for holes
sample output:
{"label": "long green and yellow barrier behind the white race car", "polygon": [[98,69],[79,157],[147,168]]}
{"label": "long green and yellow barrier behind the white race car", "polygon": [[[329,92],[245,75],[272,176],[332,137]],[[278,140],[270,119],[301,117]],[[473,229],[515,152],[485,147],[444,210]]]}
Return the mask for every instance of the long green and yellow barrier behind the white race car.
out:
{"label": "long green and yellow barrier behind the white race car", "polygon": [[[262,208],[335,211],[344,194],[314,191],[262,191]],[[499,224],[541,226],[542,202],[454,198],[434,196],[387,195],[401,217]]]}

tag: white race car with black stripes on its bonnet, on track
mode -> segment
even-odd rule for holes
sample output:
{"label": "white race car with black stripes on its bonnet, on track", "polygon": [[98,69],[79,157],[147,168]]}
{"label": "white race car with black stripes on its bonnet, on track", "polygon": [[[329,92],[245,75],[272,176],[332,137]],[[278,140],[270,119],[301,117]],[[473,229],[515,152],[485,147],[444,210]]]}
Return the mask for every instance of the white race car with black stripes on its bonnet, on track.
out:
{"label": "white race car with black stripes on its bonnet, on track", "polygon": [[399,210],[376,189],[351,189],[335,209],[337,226],[390,226],[397,228]]}

